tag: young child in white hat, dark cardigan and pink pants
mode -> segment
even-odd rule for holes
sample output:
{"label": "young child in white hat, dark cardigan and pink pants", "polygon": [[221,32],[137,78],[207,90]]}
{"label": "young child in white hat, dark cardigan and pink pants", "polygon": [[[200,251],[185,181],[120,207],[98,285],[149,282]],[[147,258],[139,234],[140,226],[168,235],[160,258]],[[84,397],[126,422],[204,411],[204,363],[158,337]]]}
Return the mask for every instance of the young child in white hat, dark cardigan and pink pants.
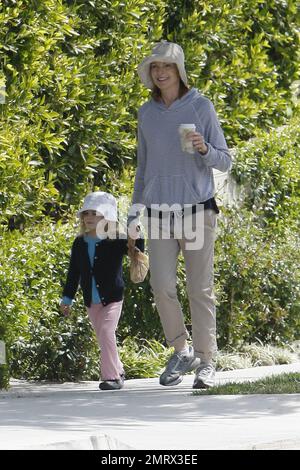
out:
{"label": "young child in white hat, dark cardigan and pink pants", "polygon": [[[116,328],[123,303],[122,259],[128,252],[127,239],[108,232],[117,226],[117,204],[108,193],[88,194],[78,212],[81,233],[74,240],[61,311],[69,315],[78,285],[83,291],[87,312],[101,349],[101,390],[118,390],[124,385],[124,368],[120,361]],[[144,240],[136,245],[144,250]]]}

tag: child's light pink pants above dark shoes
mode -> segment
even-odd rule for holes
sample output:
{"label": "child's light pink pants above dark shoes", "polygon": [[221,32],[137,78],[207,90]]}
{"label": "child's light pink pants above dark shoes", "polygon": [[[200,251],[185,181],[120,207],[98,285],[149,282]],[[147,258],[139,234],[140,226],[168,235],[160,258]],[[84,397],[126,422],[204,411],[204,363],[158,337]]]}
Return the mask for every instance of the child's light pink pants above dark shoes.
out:
{"label": "child's light pink pants above dark shoes", "polygon": [[100,375],[102,380],[115,380],[124,373],[116,341],[116,329],[121,316],[122,304],[123,301],[121,300],[106,306],[91,304],[87,308],[88,316],[101,349]]}

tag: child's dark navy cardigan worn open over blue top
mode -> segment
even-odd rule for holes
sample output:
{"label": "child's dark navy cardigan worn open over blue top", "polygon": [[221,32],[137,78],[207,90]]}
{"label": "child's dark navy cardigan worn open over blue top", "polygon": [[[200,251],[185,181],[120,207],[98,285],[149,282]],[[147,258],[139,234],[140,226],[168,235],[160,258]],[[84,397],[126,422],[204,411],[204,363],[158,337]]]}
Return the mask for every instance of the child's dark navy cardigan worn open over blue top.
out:
{"label": "child's dark navy cardigan worn open over blue top", "polygon": [[[88,244],[78,236],[72,245],[69,270],[63,296],[74,299],[78,285],[82,288],[84,304],[90,307],[92,300],[92,276],[99,288],[103,305],[123,299],[124,280],[122,272],[123,256],[128,253],[127,239],[105,239],[96,243],[94,265],[91,266]],[[144,251],[144,239],[139,238],[136,246]]]}

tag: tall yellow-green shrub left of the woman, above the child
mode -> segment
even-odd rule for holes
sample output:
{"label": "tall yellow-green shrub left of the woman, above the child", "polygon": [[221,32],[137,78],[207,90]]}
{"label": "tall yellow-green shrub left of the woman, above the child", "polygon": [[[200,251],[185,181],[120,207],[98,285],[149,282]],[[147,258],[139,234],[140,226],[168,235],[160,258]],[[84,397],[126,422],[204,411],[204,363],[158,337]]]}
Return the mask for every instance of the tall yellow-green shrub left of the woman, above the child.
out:
{"label": "tall yellow-green shrub left of the woman, above the child", "polygon": [[0,221],[59,217],[121,171],[143,99],[136,64],[161,18],[161,0],[1,2]]}

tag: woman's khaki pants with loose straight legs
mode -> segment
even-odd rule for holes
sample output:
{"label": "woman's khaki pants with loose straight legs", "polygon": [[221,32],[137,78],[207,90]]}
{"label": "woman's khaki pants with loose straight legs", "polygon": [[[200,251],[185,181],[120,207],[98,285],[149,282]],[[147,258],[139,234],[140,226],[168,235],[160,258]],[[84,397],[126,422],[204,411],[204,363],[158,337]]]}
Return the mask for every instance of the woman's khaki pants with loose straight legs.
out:
{"label": "woman's khaki pants with loose straight legs", "polygon": [[[171,219],[171,238],[148,240],[150,284],[159,312],[166,340],[178,351],[182,349],[189,334],[184,324],[177,298],[177,259],[182,251],[186,268],[186,285],[192,319],[192,340],[196,357],[211,362],[216,350],[216,313],[213,293],[214,241],[216,213],[205,210],[201,227],[203,246],[189,249],[185,234],[181,238],[174,233]],[[176,219],[176,217],[175,217]],[[195,227],[194,227],[195,228]]]}

